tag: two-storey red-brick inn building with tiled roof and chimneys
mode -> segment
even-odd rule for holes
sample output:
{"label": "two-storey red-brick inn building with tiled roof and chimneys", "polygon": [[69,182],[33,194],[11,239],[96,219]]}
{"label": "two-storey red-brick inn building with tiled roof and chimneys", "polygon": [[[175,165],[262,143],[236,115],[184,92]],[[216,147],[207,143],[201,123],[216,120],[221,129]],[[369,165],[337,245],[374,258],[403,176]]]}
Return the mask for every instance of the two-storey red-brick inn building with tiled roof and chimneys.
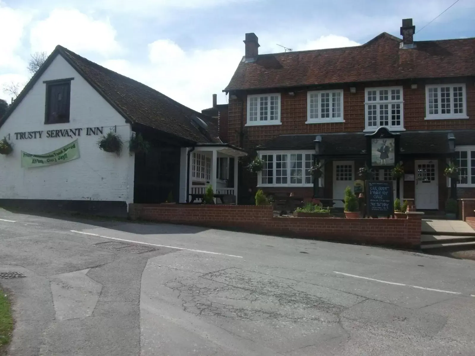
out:
{"label": "two-storey red-brick inn building with tiled roof and chimneys", "polygon": [[[413,41],[414,31],[406,19],[404,40],[384,32],[356,47],[264,55],[246,34],[225,89],[229,142],[266,161],[257,176],[243,172],[246,188],[340,199],[367,161],[364,135],[384,126],[400,134],[400,198],[443,210],[450,159],[461,167],[457,197],[475,198],[475,38]],[[314,160],[324,171],[315,186]]]}

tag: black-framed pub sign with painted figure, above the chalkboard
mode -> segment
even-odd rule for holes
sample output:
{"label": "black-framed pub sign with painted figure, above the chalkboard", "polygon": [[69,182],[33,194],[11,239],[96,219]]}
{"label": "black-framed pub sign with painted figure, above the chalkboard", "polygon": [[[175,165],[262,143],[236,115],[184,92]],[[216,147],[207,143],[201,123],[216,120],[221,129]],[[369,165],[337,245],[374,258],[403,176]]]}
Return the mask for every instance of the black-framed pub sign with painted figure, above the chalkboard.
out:
{"label": "black-framed pub sign with painted figure, above the chalkboard", "polygon": [[368,167],[392,169],[399,162],[399,133],[392,133],[385,127],[367,134]]}

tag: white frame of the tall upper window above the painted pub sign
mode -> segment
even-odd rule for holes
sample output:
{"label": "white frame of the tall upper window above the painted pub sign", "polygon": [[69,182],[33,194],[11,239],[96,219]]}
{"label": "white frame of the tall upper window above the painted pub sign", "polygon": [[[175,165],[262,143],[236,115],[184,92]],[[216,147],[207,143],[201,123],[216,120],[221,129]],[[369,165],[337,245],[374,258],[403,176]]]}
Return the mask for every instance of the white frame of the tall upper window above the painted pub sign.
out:
{"label": "white frame of the tall upper window above the painted pub sign", "polygon": [[[399,100],[391,100],[391,90],[399,89],[400,91],[400,98]],[[368,92],[376,91],[376,100],[375,101],[368,101]],[[380,90],[387,90],[388,91],[388,100],[381,101]],[[400,104],[400,115],[401,115],[401,124],[399,126],[392,126],[391,125],[391,104]],[[368,125],[368,105],[377,105],[376,112],[377,112],[377,126],[369,126]],[[386,127],[389,131],[406,131],[404,129],[404,90],[402,86],[381,86],[375,88],[365,88],[364,89],[364,132],[374,132],[380,128],[380,104],[388,104],[388,126]]]}

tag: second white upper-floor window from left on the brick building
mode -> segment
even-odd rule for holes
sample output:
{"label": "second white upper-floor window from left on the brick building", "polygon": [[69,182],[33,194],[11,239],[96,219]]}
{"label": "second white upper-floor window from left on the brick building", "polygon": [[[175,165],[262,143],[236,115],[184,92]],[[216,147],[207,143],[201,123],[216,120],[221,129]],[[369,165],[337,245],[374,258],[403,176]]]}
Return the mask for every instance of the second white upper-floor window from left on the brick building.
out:
{"label": "second white upper-floor window from left on the brick building", "polygon": [[343,90],[307,93],[307,122],[343,122]]}

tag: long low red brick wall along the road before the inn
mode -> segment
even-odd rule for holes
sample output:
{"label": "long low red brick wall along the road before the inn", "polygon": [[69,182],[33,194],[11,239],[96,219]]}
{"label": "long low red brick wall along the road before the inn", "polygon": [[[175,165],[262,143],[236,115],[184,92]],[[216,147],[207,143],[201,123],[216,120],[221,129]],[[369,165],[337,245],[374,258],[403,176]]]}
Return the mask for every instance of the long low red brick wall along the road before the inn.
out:
{"label": "long low red brick wall along the road before the inn", "polygon": [[407,219],[274,217],[271,206],[130,204],[130,217],[365,244],[420,245],[421,215]]}

